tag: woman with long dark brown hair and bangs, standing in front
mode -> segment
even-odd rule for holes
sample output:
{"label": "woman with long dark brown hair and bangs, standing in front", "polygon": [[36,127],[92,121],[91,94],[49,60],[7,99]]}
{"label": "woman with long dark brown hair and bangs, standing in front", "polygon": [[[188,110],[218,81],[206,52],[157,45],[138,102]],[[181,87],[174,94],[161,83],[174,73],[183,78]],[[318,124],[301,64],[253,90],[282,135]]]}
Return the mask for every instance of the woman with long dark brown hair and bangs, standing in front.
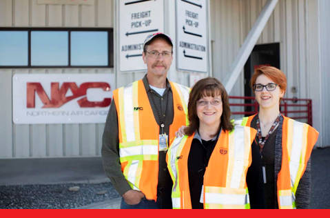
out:
{"label": "woman with long dark brown hair and bangs, standing in front", "polygon": [[167,152],[173,208],[265,208],[256,130],[235,126],[220,81],[198,81],[189,95],[189,126]]}

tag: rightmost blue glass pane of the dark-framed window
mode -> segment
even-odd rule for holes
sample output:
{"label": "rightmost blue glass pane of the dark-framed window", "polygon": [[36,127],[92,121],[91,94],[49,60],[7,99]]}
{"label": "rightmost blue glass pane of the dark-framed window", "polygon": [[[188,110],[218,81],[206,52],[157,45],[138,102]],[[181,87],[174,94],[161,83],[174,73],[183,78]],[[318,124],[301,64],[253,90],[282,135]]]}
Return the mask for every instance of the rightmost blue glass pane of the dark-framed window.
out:
{"label": "rightmost blue glass pane of the dark-framed window", "polygon": [[108,66],[107,32],[72,31],[71,66]]}

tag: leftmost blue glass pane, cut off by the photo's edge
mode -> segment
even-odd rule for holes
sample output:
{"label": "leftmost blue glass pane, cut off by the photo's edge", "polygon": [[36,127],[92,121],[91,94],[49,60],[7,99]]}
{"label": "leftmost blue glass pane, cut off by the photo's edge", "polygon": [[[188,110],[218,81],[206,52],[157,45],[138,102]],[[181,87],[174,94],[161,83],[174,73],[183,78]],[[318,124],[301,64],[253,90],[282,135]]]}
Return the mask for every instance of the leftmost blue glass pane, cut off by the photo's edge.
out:
{"label": "leftmost blue glass pane, cut off by the photo's edge", "polygon": [[28,31],[0,31],[0,66],[28,66]]}

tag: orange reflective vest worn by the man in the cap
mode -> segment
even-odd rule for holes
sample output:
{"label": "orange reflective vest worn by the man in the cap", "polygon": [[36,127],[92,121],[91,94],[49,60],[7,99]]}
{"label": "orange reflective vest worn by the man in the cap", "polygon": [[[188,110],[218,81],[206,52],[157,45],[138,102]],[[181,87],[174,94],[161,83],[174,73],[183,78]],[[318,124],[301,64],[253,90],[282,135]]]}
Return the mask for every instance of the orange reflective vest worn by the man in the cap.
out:
{"label": "orange reflective vest worn by the man in the cap", "polygon": [[[188,125],[189,88],[170,82],[174,120],[169,139],[178,128]],[[114,90],[118,115],[119,157],[123,175],[134,190],[147,199],[157,199],[159,126],[154,118],[142,80]],[[169,109],[171,110],[171,109]]]}

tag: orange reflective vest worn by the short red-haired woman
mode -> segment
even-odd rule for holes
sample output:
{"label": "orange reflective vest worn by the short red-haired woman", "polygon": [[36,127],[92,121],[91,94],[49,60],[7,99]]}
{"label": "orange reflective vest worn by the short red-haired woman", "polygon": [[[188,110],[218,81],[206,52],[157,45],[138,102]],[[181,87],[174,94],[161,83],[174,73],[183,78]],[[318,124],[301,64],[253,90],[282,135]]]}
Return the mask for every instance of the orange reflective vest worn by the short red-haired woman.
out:
{"label": "orange reflective vest worn by the short red-haired woman", "polygon": [[[251,126],[256,115],[235,123]],[[283,115],[282,115],[283,116]],[[282,125],[282,166],[278,173],[278,208],[296,209],[296,191],[306,170],[311,151],[318,141],[318,131],[307,123],[284,117]]]}

